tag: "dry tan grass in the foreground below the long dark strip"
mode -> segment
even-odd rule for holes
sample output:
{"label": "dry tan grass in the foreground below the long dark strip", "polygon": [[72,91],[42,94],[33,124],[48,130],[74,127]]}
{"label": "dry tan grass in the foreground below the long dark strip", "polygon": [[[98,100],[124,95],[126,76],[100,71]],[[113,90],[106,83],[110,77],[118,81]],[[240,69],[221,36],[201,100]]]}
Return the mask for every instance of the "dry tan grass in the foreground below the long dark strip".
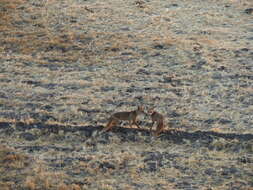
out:
{"label": "dry tan grass in the foreground below the long dark strip", "polygon": [[[68,127],[62,130],[66,129]],[[28,131],[37,133],[33,129]],[[63,131],[50,136],[45,133],[34,142],[13,137],[10,141],[6,137],[5,143],[33,157],[24,167],[20,162],[27,161],[26,157],[9,154],[10,149],[2,147],[1,155],[6,155],[1,156],[2,160],[12,163],[8,168],[22,171],[22,178],[15,174],[11,179],[21,178],[18,187],[28,189],[180,189],[189,186],[229,189],[230,182],[232,186],[244,184],[239,185],[239,189],[250,186],[252,141],[216,137],[209,144],[205,139],[175,144],[130,131],[129,134],[110,132],[87,140],[82,132]],[[132,135],[134,141],[130,140]]]}

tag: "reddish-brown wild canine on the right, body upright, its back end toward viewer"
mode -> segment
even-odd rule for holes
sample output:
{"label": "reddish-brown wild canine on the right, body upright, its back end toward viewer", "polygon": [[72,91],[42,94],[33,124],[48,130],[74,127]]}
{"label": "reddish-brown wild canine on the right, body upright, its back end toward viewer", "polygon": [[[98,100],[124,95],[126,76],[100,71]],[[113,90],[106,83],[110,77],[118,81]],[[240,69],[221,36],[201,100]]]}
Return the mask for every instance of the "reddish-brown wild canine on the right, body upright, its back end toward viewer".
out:
{"label": "reddish-brown wild canine on the right, body upright, its back end toward viewer", "polygon": [[150,108],[148,110],[148,114],[151,116],[151,119],[152,119],[150,133],[152,131],[154,124],[156,123],[157,126],[156,126],[154,136],[157,137],[160,133],[164,132],[164,130],[165,130],[164,116],[162,114],[158,113],[157,111],[155,111],[154,108]]}

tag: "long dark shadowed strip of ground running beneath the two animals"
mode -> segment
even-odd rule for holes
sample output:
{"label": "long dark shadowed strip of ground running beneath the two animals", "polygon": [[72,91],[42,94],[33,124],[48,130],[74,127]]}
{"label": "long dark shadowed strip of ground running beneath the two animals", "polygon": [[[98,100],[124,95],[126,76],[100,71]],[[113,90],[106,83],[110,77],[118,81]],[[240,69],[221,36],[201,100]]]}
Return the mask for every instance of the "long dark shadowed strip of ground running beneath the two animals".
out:
{"label": "long dark shadowed strip of ground running beneath the two animals", "polygon": [[[13,127],[15,126],[15,127]],[[100,132],[103,129],[103,126],[71,126],[71,125],[49,125],[43,123],[34,123],[34,124],[25,124],[22,122],[18,123],[7,123],[0,122],[0,131],[2,133],[11,134],[18,131],[29,131],[30,129],[40,129],[43,130],[42,134],[49,133],[58,133],[59,131],[66,132],[82,132],[86,138],[92,137],[96,132]],[[119,136],[122,140],[126,141],[136,141],[136,136],[141,134],[142,136],[151,136],[148,128],[126,128],[126,127],[114,127],[110,132],[102,134],[103,136],[108,136],[115,134]],[[138,135],[137,135],[138,134]],[[206,143],[212,142],[214,139],[223,138],[225,140],[239,140],[239,141],[249,141],[253,140],[253,134],[237,134],[237,133],[217,133],[213,131],[194,131],[194,132],[185,132],[185,131],[176,131],[169,130],[162,133],[158,138],[161,140],[170,140],[173,143],[183,143],[185,140],[190,142],[195,141],[205,141]]]}

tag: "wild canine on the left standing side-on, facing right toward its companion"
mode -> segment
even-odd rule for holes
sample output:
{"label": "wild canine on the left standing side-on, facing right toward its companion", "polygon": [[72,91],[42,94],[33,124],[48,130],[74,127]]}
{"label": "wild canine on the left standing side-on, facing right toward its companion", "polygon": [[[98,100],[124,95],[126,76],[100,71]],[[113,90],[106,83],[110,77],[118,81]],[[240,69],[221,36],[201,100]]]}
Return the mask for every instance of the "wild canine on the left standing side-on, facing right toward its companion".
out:
{"label": "wild canine on the left standing side-on, facing right toward its companion", "polygon": [[140,129],[140,126],[137,124],[136,120],[137,116],[141,114],[146,114],[142,106],[138,106],[136,110],[130,112],[116,112],[109,118],[109,121],[106,127],[103,129],[103,132],[111,130],[111,128],[117,125],[119,121],[129,121],[131,127],[134,124]]}

